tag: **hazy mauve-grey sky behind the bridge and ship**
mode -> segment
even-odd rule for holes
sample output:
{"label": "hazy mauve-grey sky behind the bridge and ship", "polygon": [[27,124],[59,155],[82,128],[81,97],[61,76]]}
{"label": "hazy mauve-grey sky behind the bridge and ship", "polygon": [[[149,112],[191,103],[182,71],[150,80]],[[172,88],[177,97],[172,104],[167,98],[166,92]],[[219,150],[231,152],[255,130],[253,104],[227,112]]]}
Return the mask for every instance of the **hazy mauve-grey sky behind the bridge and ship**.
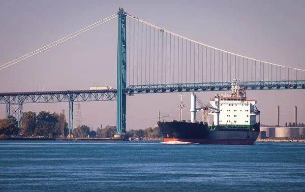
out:
{"label": "hazy mauve-grey sky behind the bridge and ship", "polygon": [[[305,69],[304,1],[1,1],[0,65],[102,20],[118,8],[176,34],[233,53]],[[117,19],[0,71],[0,92],[116,87]],[[249,90],[262,124],[305,120],[305,90]],[[203,102],[216,91],[196,92]],[[190,119],[191,93],[184,93]],[[127,97],[127,130],[153,127],[161,116],[178,119],[179,93]],[[80,103],[83,124],[116,124],[116,101]],[[77,107],[74,106],[74,123]],[[24,104],[23,111],[63,112],[68,103]],[[5,105],[0,105],[0,119]]]}

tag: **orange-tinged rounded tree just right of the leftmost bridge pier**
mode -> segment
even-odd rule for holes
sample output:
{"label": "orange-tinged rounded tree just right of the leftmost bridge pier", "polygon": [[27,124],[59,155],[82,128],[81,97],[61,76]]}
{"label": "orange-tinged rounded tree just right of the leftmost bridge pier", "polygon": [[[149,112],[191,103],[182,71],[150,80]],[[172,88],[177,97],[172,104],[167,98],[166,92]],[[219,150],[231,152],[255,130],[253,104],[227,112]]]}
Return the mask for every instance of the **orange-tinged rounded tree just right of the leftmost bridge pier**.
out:
{"label": "orange-tinged rounded tree just right of the leftmost bridge pier", "polygon": [[22,117],[21,134],[27,135],[28,137],[35,133],[37,127],[36,114],[29,111]]}

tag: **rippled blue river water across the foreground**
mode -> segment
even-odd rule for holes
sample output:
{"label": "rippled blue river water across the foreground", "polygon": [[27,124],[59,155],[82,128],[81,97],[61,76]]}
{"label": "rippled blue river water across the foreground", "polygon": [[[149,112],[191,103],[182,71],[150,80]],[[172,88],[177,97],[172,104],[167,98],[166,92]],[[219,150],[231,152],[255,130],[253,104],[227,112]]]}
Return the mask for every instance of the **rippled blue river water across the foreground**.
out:
{"label": "rippled blue river water across the foreground", "polygon": [[0,141],[0,191],[305,191],[305,143]]}

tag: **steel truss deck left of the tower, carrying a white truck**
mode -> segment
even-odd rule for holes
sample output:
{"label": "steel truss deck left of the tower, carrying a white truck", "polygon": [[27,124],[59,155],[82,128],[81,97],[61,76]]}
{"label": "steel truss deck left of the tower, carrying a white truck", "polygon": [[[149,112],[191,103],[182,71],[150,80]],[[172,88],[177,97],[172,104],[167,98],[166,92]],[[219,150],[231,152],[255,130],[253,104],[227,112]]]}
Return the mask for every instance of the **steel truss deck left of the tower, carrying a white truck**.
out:
{"label": "steel truss deck left of the tower, carrying a white truck", "polygon": [[0,104],[55,103],[116,100],[113,90],[67,90],[0,93]]}

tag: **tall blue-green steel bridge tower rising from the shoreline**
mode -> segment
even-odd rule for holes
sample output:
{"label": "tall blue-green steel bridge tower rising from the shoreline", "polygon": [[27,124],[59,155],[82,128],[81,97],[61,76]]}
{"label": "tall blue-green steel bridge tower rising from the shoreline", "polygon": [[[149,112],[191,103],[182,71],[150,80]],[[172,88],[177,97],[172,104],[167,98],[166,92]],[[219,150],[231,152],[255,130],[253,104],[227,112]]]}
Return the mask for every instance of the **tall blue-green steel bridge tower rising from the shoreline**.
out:
{"label": "tall blue-green steel bridge tower rising from the shoreline", "polygon": [[119,8],[117,30],[117,101],[116,101],[116,135],[123,138],[126,135],[126,12]]}

